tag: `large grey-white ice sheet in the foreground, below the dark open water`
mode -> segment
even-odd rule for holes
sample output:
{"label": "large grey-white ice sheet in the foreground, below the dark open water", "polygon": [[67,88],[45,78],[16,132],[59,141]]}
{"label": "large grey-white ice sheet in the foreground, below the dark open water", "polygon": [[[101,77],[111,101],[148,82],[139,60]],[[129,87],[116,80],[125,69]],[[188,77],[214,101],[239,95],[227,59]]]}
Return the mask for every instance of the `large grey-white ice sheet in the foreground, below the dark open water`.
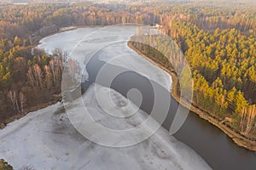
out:
{"label": "large grey-white ice sheet in the foreground, below the dark open water", "polygon": [[[106,115],[96,103],[94,86],[98,90],[104,89],[93,84],[83,95],[83,99],[84,105],[97,122],[119,129],[140,123],[137,116],[119,122]],[[118,93],[113,91],[113,94]],[[123,102],[124,99],[120,97],[115,102]],[[77,104],[78,99],[69,109],[77,111],[83,117],[84,105]],[[143,111],[137,112],[141,114],[140,118],[148,116]],[[117,149],[90,142],[74,129],[60,103],[9,123],[8,127],[0,130],[0,142],[1,157],[15,169],[23,166],[47,170],[210,169],[194,150],[177,141],[162,127],[149,139],[130,147]]]}

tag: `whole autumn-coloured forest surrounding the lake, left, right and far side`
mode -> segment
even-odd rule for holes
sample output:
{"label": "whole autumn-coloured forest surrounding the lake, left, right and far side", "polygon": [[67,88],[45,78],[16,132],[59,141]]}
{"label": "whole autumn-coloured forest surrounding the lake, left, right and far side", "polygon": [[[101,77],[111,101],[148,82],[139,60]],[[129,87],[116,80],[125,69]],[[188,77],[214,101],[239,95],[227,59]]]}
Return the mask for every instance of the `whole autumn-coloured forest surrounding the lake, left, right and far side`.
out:
{"label": "whole autumn-coloured forest surrounding the lake, left, right and far side", "polygon": [[54,100],[61,92],[61,71],[68,56],[61,49],[31,53],[39,39],[65,26],[119,23],[160,24],[189,61],[193,103],[256,139],[256,10],[239,2],[1,5],[1,122]]}

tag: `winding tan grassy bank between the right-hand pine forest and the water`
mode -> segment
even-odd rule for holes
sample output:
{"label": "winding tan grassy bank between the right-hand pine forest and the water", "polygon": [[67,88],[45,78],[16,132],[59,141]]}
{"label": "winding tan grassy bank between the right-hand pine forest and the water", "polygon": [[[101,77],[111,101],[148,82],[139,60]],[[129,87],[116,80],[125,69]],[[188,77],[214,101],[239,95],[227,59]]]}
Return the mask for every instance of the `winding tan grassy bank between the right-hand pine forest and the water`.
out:
{"label": "winding tan grassy bank between the right-hand pine forest and the water", "polygon": [[236,133],[236,131],[227,125],[225,125],[222,121],[220,122],[217,118],[211,116],[207,111],[203,111],[197,105],[191,104],[189,107],[189,102],[186,100],[180,99],[180,95],[178,94],[178,77],[177,73],[174,70],[169,70],[166,68],[165,65],[162,65],[156,59],[151,59],[146,54],[143,54],[141,50],[134,47],[131,42],[127,43],[128,47],[133,49],[137,54],[141,55],[144,59],[147,59],[154,65],[157,65],[162,70],[166,71],[172,77],[172,88],[171,88],[171,95],[172,98],[175,99],[179,104],[183,105],[184,107],[188,108],[190,111],[193,111],[195,114],[200,116],[202,119],[210,122],[215,127],[218,127],[221,131],[223,131],[226,135],[230,137],[237,145],[246,148],[247,150],[256,151],[256,141],[252,141],[247,139],[245,136],[242,136],[240,133]]}

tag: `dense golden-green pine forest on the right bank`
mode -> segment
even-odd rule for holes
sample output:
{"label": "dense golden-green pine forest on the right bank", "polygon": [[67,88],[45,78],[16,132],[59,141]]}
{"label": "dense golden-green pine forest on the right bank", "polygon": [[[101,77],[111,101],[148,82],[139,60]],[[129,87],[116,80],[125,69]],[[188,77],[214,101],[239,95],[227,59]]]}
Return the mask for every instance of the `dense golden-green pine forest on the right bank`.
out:
{"label": "dense golden-green pine forest on the right bank", "polygon": [[[161,30],[177,42],[193,72],[193,104],[247,139],[255,140],[255,9],[235,12],[234,8],[215,8],[210,13],[206,8],[185,6],[162,10],[168,17],[160,17]],[[150,37],[145,39],[150,43]],[[160,55],[139,42],[132,43],[162,65],[173,68],[172,57]],[[157,47],[166,51],[167,44],[158,43]]]}

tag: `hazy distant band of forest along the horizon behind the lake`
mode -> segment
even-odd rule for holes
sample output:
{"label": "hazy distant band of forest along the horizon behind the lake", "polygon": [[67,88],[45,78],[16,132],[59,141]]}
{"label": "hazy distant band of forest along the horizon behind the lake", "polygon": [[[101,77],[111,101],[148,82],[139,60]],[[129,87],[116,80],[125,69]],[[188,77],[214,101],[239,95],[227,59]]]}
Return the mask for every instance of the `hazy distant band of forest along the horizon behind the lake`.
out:
{"label": "hazy distant band of forest along the horizon behind the lake", "polygon": [[[212,5],[212,4],[211,4]],[[168,20],[187,21],[207,30],[236,28],[253,30],[255,7],[237,5],[216,8],[202,4],[133,4],[43,3],[0,6],[0,37],[26,38],[46,36],[63,26],[108,26],[117,23],[140,23],[172,27]],[[36,34],[35,34],[36,33]]]}

